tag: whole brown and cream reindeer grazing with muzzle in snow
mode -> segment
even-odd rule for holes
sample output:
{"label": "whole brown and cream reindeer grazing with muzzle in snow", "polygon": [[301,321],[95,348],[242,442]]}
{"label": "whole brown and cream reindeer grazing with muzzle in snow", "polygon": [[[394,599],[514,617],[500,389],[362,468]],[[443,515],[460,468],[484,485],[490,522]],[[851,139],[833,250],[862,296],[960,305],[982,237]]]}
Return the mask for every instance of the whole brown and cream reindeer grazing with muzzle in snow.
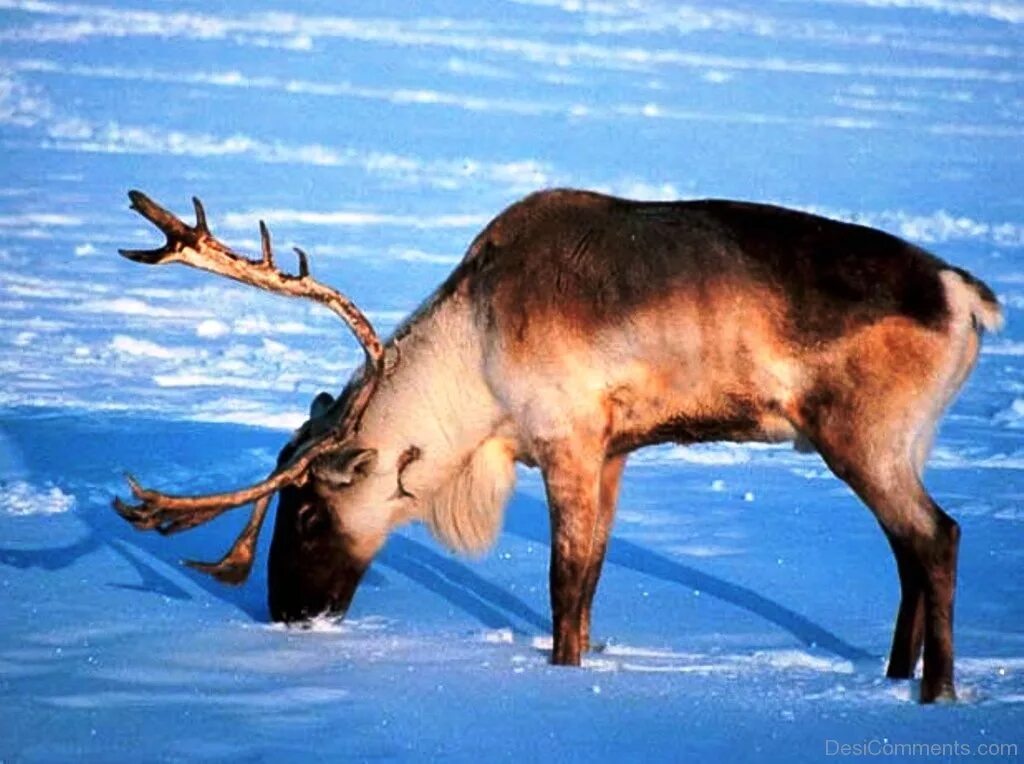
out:
{"label": "whole brown and cream reindeer grazing with muzzle in snow", "polygon": [[233,507],[252,517],[223,559],[240,583],[270,497],[274,621],[344,613],[389,532],[419,520],[459,552],[488,548],[515,481],[541,469],[551,518],[554,664],[579,666],[628,455],[675,441],[813,448],[874,513],[900,604],[888,676],[953,699],[959,526],[922,471],[937,422],[1001,312],[967,271],[888,234],[729,201],[634,202],[534,194],[496,217],[441,286],[382,342],[358,308],[309,274],[215,239],[199,200],[187,225],[139,192],[167,237],[136,262],[181,262],[321,302],[366,363],[322,393],[273,472],[239,491],[181,497],[129,477],[120,514],[173,534]]}

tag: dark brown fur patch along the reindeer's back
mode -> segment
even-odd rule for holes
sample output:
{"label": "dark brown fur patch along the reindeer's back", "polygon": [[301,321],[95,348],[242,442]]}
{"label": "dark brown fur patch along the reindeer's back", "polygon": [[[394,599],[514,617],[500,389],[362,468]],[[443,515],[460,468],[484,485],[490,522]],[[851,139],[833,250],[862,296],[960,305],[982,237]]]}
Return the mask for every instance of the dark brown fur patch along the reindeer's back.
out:
{"label": "dark brown fur patch along the reindeer's back", "polygon": [[929,327],[947,315],[938,258],[871,228],[738,202],[544,192],[496,218],[464,265],[466,288],[511,336],[551,313],[580,328],[618,321],[666,294],[700,304],[730,283],[776,296],[780,329],[802,343],[891,313]]}

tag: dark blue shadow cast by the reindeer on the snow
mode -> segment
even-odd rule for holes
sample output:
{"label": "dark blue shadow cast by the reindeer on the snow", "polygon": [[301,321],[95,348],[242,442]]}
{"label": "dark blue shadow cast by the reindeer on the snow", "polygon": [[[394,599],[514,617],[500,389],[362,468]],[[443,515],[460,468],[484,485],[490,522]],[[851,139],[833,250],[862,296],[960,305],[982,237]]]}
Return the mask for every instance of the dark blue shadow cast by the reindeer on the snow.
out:
{"label": "dark blue shadow cast by the reindeer on the snow", "polygon": [[[0,474],[0,479],[29,480],[34,484],[55,483],[79,499],[75,519],[84,526],[70,543],[52,547],[0,547],[0,564],[15,568],[59,570],[90,555],[108,552],[117,555],[134,571],[135,581],[113,581],[108,586],[137,590],[177,600],[191,599],[190,584],[247,613],[256,621],[267,620],[265,602],[265,554],[273,526],[268,518],[261,540],[260,560],[246,586],[223,586],[207,576],[180,566],[183,556],[216,559],[226,550],[244,522],[244,510],[228,513],[208,525],[187,534],[165,539],[156,534],[140,534],[125,523],[110,508],[112,487],[124,493],[122,470],[131,468],[151,483],[161,484],[162,475],[204,477],[202,485],[168,485],[178,492],[217,490],[225,483],[210,482],[205,474],[219,465],[237,463],[240,454],[260,454],[265,464],[272,464],[285,438],[280,431],[241,425],[175,422],[105,415],[88,417],[63,412],[34,410],[8,419],[0,430],[8,450],[17,453],[15,475]],[[144,444],[144,449],[139,445]],[[252,459],[250,458],[250,461]],[[169,470],[169,465],[172,468]],[[9,471],[9,465],[0,465]],[[238,478],[227,479],[227,484]],[[628,479],[628,476],[627,476]],[[169,478],[169,480],[173,480]],[[165,483],[166,484],[166,483]],[[89,499],[83,500],[83,495]],[[31,521],[33,518],[0,518],[2,522]],[[550,542],[548,511],[543,502],[516,494],[508,508],[505,533],[547,548]],[[4,534],[0,528],[0,538]],[[539,557],[538,583],[547,580],[547,559]],[[508,628],[524,633],[520,624],[537,634],[550,631],[550,619],[503,586],[488,581],[446,553],[435,551],[402,533],[393,534],[374,566],[367,575],[367,589],[386,587],[387,576],[401,575],[488,629]],[[788,632],[805,645],[814,645],[848,661],[873,657],[870,653],[843,641],[806,617],[775,602],[757,591],[703,572],[639,544],[612,536],[602,578],[625,567],[671,584],[689,592],[741,607]],[[119,574],[117,578],[121,579]],[[598,595],[600,597],[600,594]],[[598,603],[598,607],[600,603]]]}

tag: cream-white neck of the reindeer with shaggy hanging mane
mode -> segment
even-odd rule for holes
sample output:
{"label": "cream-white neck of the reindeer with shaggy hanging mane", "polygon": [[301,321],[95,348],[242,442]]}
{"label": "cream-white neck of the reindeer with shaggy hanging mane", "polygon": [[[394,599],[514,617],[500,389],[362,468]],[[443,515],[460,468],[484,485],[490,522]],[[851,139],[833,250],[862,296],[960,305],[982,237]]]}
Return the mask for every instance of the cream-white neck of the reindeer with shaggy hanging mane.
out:
{"label": "cream-white neck of the reindeer with shaggy hanging mane", "polygon": [[471,307],[459,295],[428,303],[390,344],[397,367],[367,410],[360,440],[384,464],[419,450],[401,477],[415,500],[396,524],[420,519],[447,547],[483,552],[515,484],[515,447],[497,435],[503,413],[484,382]]}

